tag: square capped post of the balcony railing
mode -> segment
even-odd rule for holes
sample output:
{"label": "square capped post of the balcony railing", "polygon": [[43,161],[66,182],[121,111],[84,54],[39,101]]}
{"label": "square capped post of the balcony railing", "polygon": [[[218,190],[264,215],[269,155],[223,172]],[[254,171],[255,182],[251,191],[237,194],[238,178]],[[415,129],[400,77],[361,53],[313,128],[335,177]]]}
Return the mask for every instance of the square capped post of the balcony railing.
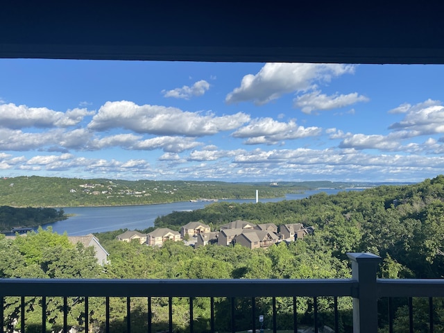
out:
{"label": "square capped post of the balcony railing", "polygon": [[353,298],[353,333],[377,332],[376,269],[381,257],[372,253],[347,253],[352,262],[352,278],[358,282]]}

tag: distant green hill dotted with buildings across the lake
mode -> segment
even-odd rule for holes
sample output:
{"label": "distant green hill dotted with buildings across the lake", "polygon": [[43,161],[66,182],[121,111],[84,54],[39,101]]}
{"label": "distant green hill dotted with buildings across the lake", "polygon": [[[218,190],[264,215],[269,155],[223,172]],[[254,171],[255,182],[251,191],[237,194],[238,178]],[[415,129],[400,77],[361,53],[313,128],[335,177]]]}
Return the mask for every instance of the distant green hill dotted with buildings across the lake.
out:
{"label": "distant green hill dotted with buildings across the lake", "polygon": [[0,178],[0,205],[14,207],[71,207],[148,205],[199,199],[285,196],[318,187],[363,186],[346,182],[230,183],[155,180],[110,180],[54,177]]}

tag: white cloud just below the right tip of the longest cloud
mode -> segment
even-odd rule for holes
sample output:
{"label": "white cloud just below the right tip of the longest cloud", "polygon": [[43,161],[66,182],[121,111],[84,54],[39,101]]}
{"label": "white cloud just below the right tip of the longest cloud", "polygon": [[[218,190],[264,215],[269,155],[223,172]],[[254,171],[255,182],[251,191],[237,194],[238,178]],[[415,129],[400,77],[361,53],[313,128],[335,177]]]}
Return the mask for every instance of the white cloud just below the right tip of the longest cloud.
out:
{"label": "white cloud just below the right tip of the longest cloud", "polygon": [[321,134],[318,127],[298,126],[295,121],[284,123],[272,118],[253,119],[247,126],[239,128],[232,137],[248,138],[245,144],[277,144],[284,139],[300,139]]}

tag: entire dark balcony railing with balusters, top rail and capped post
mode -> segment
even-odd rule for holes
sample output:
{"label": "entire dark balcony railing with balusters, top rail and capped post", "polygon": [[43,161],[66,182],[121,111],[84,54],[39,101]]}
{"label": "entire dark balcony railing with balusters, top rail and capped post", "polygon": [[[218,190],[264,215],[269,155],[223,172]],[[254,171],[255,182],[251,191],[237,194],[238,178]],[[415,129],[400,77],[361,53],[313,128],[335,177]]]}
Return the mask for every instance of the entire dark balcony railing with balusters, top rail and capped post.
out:
{"label": "entire dark balcony railing with balusters, top rail and capped post", "polygon": [[[69,306],[67,298],[82,298],[85,332],[89,331],[89,298],[101,297],[105,300],[104,332],[110,332],[110,298],[126,298],[126,332],[134,329],[131,321],[130,299],[143,297],[147,302],[147,332],[153,332],[151,299],[167,298],[169,307],[169,332],[173,332],[173,298],[189,298],[189,332],[194,330],[193,302],[196,298],[210,298],[210,332],[221,332],[214,323],[214,298],[227,298],[231,307],[225,317],[231,321],[231,332],[237,332],[234,300],[247,298],[251,305],[252,332],[259,329],[259,313],[255,302],[257,298],[271,298],[273,301],[273,332],[277,332],[276,298],[293,298],[293,330],[298,332],[296,299],[312,298],[314,304],[314,330],[318,332],[317,300],[329,296],[334,299],[334,332],[339,332],[337,300],[342,297],[352,298],[352,316],[354,333],[375,333],[378,327],[378,300],[387,298],[391,304],[393,298],[409,300],[409,331],[413,332],[411,300],[413,297],[429,298],[429,332],[434,332],[433,298],[444,296],[444,280],[388,280],[377,279],[376,271],[380,258],[370,253],[349,253],[352,261],[351,279],[326,280],[58,280],[58,279],[0,279],[0,333],[6,329],[4,307],[8,296],[19,298],[19,332],[26,329],[26,298],[41,298],[42,331],[46,332],[47,298],[62,298],[62,332],[68,332],[67,316]],[[393,311],[389,308],[389,332],[393,332]],[[133,327],[132,327],[133,324]],[[16,329],[17,330],[17,329]],[[12,332],[12,331],[11,331]]]}

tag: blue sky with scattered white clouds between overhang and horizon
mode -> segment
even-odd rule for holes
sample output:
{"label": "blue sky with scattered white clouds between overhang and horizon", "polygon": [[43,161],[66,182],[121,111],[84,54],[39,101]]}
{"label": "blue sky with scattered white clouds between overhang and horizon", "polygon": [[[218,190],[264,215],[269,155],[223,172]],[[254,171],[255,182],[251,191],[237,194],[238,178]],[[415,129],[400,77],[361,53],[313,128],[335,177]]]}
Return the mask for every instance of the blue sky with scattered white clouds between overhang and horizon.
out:
{"label": "blue sky with scattered white clouds between overhang and horizon", "polygon": [[417,182],[444,66],[0,60],[0,176]]}

